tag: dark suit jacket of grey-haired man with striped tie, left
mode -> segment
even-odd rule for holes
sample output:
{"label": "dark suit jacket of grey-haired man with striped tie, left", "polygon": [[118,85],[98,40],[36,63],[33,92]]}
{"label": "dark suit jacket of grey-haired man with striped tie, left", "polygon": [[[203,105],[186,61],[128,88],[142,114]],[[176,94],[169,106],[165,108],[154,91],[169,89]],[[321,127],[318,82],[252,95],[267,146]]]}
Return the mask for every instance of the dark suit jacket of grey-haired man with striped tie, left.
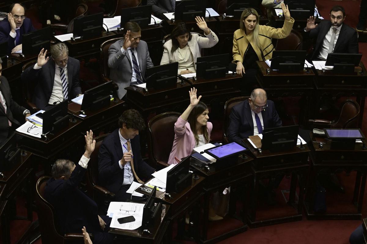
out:
{"label": "dark suit jacket of grey-haired man with striped tie, left", "polygon": [[[68,81],[69,81],[69,101],[81,94],[79,84],[79,60],[69,57],[68,61]],[[55,80],[55,61],[50,57],[48,62],[41,69],[33,69],[33,66],[28,67],[22,73],[22,81],[38,81],[34,88],[33,102],[37,108],[43,109],[48,105]]]}

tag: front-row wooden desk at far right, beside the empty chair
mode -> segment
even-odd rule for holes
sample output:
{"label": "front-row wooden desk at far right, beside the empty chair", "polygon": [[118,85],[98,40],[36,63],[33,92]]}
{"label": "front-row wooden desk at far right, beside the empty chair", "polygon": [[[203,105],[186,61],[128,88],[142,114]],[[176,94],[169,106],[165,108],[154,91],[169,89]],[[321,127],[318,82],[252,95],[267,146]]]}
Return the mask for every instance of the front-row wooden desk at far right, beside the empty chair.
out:
{"label": "front-row wooden desk at far right, beside the empty chair", "polygon": [[[312,142],[310,145],[312,160],[312,169],[308,193],[306,194],[305,210],[308,219],[361,219],[361,210],[363,206],[364,188],[366,185],[367,174],[367,149],[363,149],[361,143],[356,143],[354,150],[335,150],[330,149],[330,142],[323,138],[315,138],[310,133]],[[319,148],[319,143],[323,143],[323,148]],[[352,203],[356,207],[353,213],[324,213],[317,214],[313,211],[313,202],[315,194],[315,184],[317,175],[322,173],[334,174],[337,171],[345,171],[349,174],[351,171],[357,171],[356,183],[353,192]]]}

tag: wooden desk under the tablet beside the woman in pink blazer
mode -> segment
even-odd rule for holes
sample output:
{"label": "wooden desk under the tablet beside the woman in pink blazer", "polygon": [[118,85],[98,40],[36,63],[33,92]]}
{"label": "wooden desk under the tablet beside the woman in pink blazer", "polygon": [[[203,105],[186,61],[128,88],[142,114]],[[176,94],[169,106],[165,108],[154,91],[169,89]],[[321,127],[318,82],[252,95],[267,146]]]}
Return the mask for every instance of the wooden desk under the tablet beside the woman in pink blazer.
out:
{"label": "wooden desk under the tablet beside the woman in pink blazer", "polygon": [[[209,201],[210,196],[213,192],[222,191],[226,187],[231,187],[230,200],[229,200],[229,216],[234,217],[236,212],[236,191],[243,196],[244,190],[237,189],[238,186],[241,188],[246,188],[246,182],[250,183],[252,181],[252,174],[248,173],[249,165],[252,161],[252,157],[246,156],[244,158],[238,157],[237,162],[230,167],[220,167],[218,168],[216,163],[208,165],[211,172],[208,172],[204,167],[198,167],[197,165],[191,164],[191,167],[195,168],[197,174],[202,175],[205,178],[203,190],[204,195],[204,205],[203,205],[203,224],[202,224],[202,234],[200,237],[200,243],[214,243],[220,240],[224,240],[230,236],[234,236],[238,233],[245,232],[247,230],[246,219],[243,218],[243,225],[230,230],[226,233],[220,233],[218,236],[208,239],[208,216],[209,216]],[[243,200],[243,199],[241,199]],[[244,208],[243,211],[246,211]]]}

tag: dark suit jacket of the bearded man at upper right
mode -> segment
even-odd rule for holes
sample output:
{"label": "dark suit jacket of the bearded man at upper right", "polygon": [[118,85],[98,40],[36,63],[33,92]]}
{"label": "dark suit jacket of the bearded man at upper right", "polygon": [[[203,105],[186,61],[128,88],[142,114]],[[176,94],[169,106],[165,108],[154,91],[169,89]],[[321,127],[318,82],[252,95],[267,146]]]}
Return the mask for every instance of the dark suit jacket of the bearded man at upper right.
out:
{"label": "dark suit jacket of the bearded man at upper right", "polygon": [[[330,27],[330,20],[323,20],[316,26],[315,29],[312,29],[308,32],[303,31],[303,35],[305,38],[316,38],[316,43],[313,47],[311,60],[317,58],[317,56],[319,55],[320,48],[322,48],[322,43],[327,32],[330,30]],[[346,23],[343,23],[340,29],[339,37],[334,47],[334,52],[358,53],[357,32]]]}

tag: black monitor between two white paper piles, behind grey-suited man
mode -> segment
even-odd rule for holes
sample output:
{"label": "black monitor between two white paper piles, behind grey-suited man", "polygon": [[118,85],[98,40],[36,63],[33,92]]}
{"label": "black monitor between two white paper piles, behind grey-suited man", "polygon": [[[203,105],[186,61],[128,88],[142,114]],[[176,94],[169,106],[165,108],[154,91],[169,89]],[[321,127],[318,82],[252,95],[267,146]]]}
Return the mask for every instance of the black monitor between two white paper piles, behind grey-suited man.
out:
{"label": "black monitor between two white paper piles, behind grey-suited man", "polygon": [[83,39],[101,36],[103,13],[80,16],[74,19],[73,36]]}

